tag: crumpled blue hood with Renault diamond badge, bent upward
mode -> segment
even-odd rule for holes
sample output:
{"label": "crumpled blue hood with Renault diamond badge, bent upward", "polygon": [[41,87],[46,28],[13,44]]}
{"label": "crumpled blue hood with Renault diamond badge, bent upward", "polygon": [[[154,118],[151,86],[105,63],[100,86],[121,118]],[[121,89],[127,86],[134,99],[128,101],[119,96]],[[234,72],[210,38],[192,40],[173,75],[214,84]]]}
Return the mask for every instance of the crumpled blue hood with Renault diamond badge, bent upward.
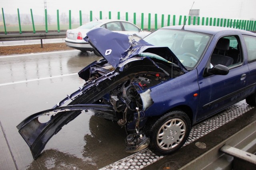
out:
{"label": "crumpled blue hood with Renault diamond badge, bent upward", "polygon": [[99,27],[90,30],[84,40],[89,42],[114,68],[117,68],[119,64],[127,59],[135,57],[146,50],[148,51],[150,48],[154,48],[151,51],[161,50],[170,53],[170,56],[175,60],[172,63],[180,66],[182,70],[186,70],[168,47],[155,47],[136,35],[115,33]]}

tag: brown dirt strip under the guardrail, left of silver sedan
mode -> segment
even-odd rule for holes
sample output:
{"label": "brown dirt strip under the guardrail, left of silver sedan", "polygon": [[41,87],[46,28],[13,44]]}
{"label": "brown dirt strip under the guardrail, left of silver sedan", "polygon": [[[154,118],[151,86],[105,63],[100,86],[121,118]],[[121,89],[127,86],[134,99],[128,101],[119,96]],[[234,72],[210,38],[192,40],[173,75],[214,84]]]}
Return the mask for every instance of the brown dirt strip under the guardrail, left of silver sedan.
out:
{"label": "brown dirt strip under the guardrail, left of silver sedan", "polygon": [[45,43],[41,48],[41,44],[34,45],[14,45],[0,47],[0,55],[14,55],[26,53],[41,53],[49,51],[71,50],[65,43]]}

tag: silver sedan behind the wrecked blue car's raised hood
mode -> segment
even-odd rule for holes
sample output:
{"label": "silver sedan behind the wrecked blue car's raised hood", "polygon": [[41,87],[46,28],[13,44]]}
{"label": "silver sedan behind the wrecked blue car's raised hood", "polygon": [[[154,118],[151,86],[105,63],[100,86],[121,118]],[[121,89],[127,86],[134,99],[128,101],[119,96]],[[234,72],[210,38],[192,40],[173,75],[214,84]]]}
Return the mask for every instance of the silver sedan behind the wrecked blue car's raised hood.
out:
{"label": "silver sedan behind the wrecked blue car's raised hood", "polygon": [[[78,49],[80,51],[94,51],[92,46],[84,41],[84,37],[86,37],[86,33],[90,31],[90,29],[94,29],[96,27],[103,27],[110,31],[133,35],[136,34],[141,38],[146,37],[150,34],[149,31],[143,31],[136,25],[131,22],[124,20],[96,20],[88,22],[84,25],[76,29],[68,29],[66,32],[65,43],[67,46]],[[94,51],[96,55],[99,55],[96,51]]]}

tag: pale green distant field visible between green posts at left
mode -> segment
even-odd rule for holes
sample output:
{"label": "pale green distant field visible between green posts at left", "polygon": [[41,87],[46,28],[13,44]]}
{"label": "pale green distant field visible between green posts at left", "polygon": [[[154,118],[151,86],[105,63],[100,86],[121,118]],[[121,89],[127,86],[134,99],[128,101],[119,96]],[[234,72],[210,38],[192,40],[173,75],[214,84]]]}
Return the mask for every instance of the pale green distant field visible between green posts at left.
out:
{"label": "pale green distant field visible between green posts at left", "polygon": [[[77,28],[79,27],[79,24],[72,24],[71,28]],[[60,25],[60,30],[62,29],[69,29],[69,25]],[[37,31],[45,31],[45,25],[35,25],[35,30]],[[48,31],[50,30],[56,30],[58,31],[58,26],[57,24],[53,24],[53,25],[48,25]],[[11,31],[20,31],[20,27],[19,25],[6,25],[6,31],[7,32],[11,32]],[[21,31],[33,31],[33,26],[32,25],[21,25]],[[0,32],[4,32],[4,26],[1,25],[0,26]]]}

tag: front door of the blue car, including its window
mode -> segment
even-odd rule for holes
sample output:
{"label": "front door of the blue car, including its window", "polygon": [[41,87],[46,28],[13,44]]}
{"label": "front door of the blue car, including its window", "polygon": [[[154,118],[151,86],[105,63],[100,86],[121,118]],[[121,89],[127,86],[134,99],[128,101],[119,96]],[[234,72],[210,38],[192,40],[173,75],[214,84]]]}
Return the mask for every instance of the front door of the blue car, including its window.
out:
{"label": "front door of the blue car, including its window", "polygon": [[243,99],[249,70],[247,63],[244,62],[240,42],[238,35],[218,39],[206,67],[212,68],[214,64],[226,65],[229,68],[229,73],[227,75],[206,73],[199,77],[200,102],[197,121]]}

